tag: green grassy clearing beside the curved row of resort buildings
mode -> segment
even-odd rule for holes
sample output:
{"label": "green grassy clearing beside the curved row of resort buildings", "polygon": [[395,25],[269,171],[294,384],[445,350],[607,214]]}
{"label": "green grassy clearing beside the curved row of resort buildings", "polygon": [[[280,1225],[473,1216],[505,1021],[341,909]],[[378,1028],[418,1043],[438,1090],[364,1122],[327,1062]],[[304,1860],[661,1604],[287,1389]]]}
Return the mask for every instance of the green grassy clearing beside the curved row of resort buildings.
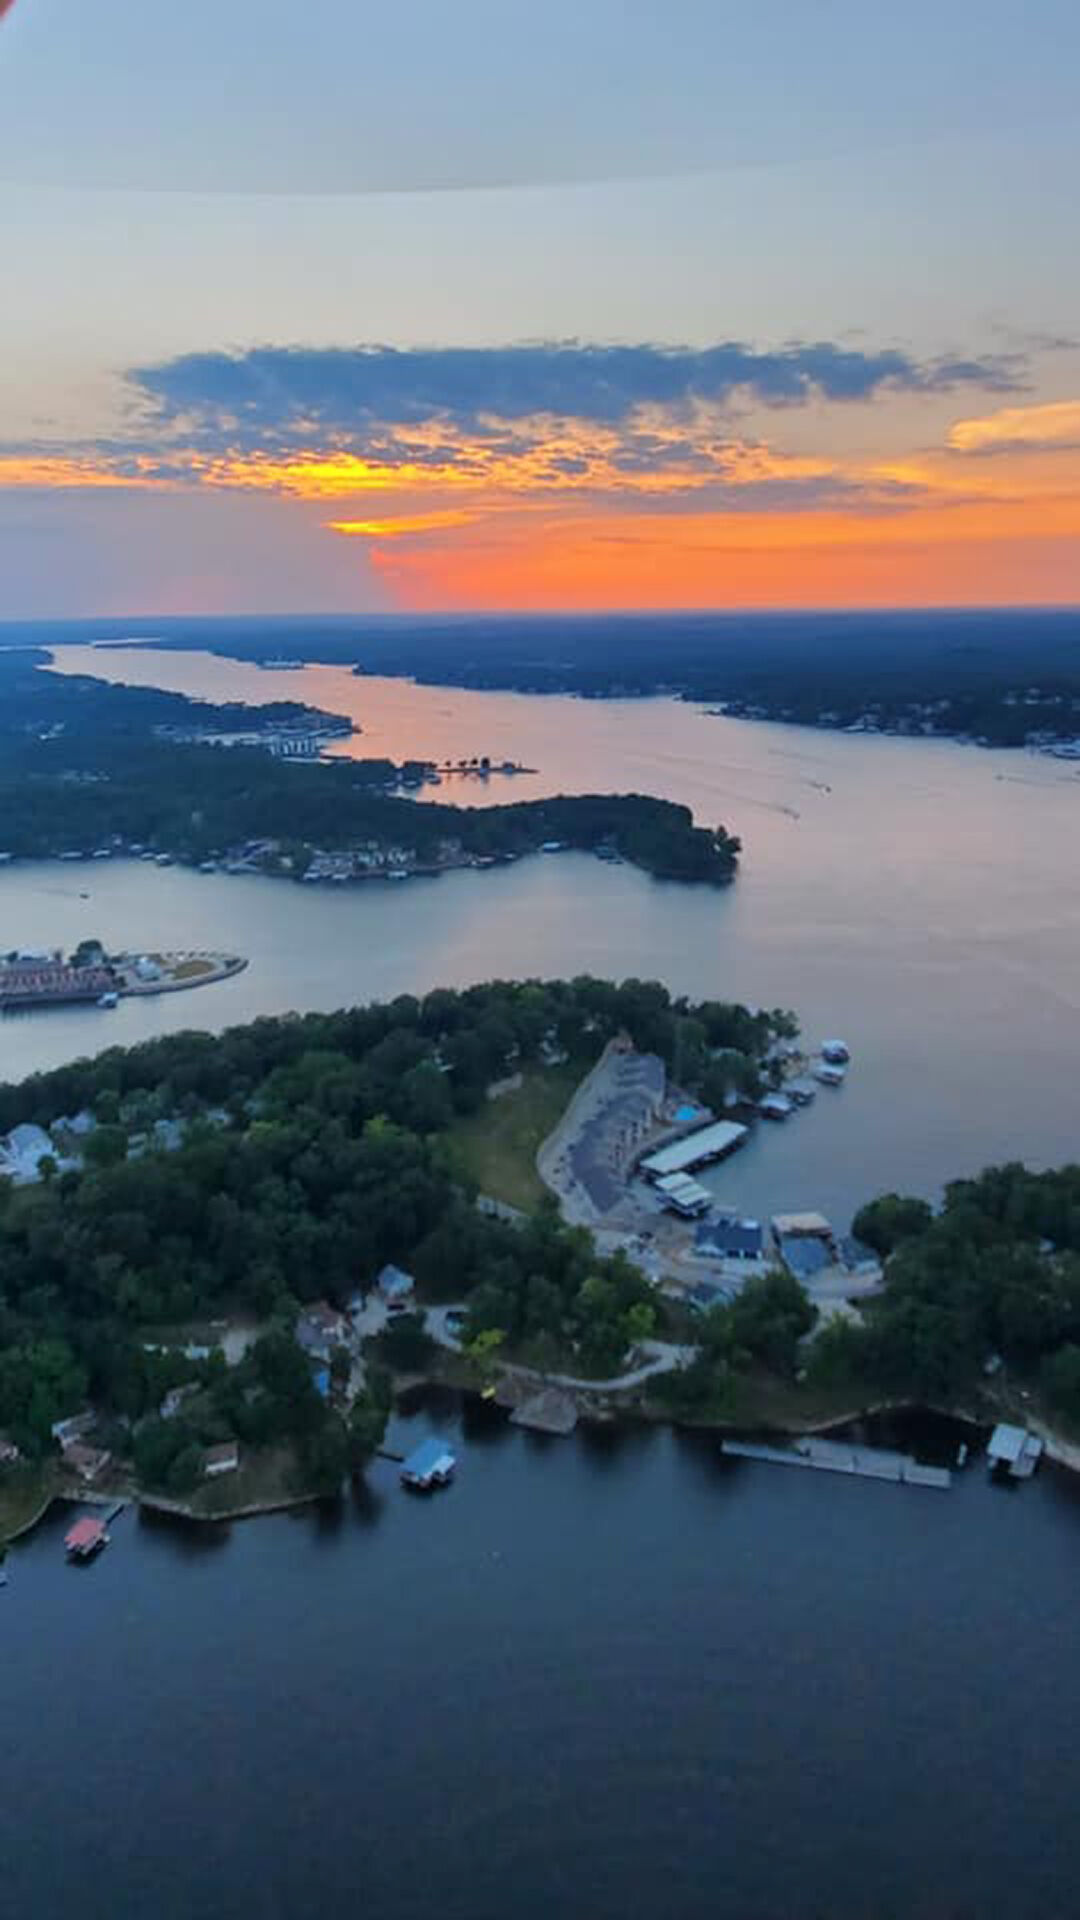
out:
{"label": "green grassy clearing beside the curved row of resort buildings", "polygon": [[536,1173],[536,1150],[548,1139],[580,1081],[580,1068],[532,1068],[515,1092],[484,1100],[446,1135],[450,1173],[473,1181],[482,1194],[519,1206],[540,1204],[546,1187]]}

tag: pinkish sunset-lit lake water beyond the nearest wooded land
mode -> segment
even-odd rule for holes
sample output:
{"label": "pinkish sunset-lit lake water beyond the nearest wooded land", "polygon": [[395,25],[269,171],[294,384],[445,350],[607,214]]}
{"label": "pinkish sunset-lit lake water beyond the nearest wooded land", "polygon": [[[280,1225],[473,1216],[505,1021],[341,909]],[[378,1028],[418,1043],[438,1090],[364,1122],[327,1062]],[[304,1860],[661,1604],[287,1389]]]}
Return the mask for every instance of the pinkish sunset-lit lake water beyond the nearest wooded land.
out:
{"label": "pinkish sunset-lit lake water beyond the nearest wooded land", "polygon": [[[352,751],[490,753],[536,778],[454,780],[482,804],[644,791],[744,835],[734,887],[651,881],[582,854],[404,887],[298,893],[138,862],[0,874],[0,947],[227,947],[252,966],[194,995],[8,1018],[21,1077],[108,1043],[494,975],[655,975],[673,991],[794,1006],[840,1033],[849,1083],[709,1175],[748,1210],[936,1194],[945,1179],[1076,1152],[1080,885],[1074,770],[945,741],[713,718],[678,701],[577,701],[415,687],[340,668],[267,672],[213,655],[63,647],[65,670],[208,699],[304,699],[363,726]],[[304,778],[302,772],[298,778]],[[81,893],[90,895],[88,900]]]}

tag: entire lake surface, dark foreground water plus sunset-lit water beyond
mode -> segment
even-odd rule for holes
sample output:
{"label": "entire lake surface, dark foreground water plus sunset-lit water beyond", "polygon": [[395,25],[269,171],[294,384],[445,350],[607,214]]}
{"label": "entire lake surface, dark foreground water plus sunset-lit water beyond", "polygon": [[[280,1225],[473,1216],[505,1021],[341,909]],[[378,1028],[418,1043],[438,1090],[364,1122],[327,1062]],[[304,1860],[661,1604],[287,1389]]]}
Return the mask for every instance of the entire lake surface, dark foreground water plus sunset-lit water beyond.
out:
{"label": "entire lake surface, dark foreground water plus sunset-lit water beyond", "polygon": [[[6,872],[0,947],[98,933],[252,958],[190,996],[8,1020],[8,1075],[192,1021],[590,968],[790,1002],[811,1037],[851,1041],[851,1083],[717,1175],[748,1206],[842,1215],[1076,1150],[1078,793],[1059,768],[663,701],[94,666],[213,697],[348,691],[365,751],[521,758],[540,774],[517,795],[669,793],[748,858],[721,895],[580,856],[302,895],[131,862]],[[15,1551],[4,1912],[1070,1920],[1080,1482],[1009,1494],[974,1465],[930,1494],[724,1469],[667,1432],[542,1444],[463,1432],[452,1405],[438,1427],[461,1473],[432,1501],[379,1463],[332,1515],[125,1517],[88,1571],[63,1565],[58,1515]]]}

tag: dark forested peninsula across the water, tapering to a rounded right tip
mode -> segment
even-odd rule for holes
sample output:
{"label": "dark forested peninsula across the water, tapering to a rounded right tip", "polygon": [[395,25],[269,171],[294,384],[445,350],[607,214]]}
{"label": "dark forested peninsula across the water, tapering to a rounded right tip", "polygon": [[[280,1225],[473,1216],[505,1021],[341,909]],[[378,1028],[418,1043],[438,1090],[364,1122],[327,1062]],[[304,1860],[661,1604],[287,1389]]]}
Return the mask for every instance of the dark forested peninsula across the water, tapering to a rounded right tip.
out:
{"label": "dark forested peninsula across the water, tapering to a rounded right tip", "polygon": [[[284,764],[258,747],[181,745],[161,737],[192,716],[223,728],[334,714],[311,708],[211,708],[179,695],[44,674],[0,653],[0,854],[131,851],[184,862],[254,860],[319,877],[317,854],[350,854],[348,877],[394,868],[442,872],[571,847],[628,860],[657,879],[724,885],[740,841],[698,828],[688,806],[648,795],[573,795],[505,806],[446,806],[394,791],[390,760]],[[254,851],[252,851],[254,849]]]}

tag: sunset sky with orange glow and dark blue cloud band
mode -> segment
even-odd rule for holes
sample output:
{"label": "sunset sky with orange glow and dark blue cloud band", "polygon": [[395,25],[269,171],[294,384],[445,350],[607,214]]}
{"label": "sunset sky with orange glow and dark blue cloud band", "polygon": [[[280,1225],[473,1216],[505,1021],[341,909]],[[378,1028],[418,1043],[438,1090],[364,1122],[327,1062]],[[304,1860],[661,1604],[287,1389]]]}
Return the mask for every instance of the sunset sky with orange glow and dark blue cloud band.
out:
{"label": "sunset sky with orange glow and dark blue cloud band", "polygon": [[0,0],[0,616],[1080,601],[1072,0]]}

